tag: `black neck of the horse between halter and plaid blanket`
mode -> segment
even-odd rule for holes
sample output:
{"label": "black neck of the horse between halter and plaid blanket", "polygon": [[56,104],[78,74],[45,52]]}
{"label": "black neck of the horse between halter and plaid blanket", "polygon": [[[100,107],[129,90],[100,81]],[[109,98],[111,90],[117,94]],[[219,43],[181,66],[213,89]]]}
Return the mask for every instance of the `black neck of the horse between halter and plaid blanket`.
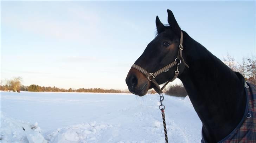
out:
{"label": "black neck of the horse between halter and plaid blanket", "polygon": [[205,138],[218,142],[230,134],[243,117],[244,78],[186,32],[183,45],[189,68],[185,68],[179,78],[203,123]]}

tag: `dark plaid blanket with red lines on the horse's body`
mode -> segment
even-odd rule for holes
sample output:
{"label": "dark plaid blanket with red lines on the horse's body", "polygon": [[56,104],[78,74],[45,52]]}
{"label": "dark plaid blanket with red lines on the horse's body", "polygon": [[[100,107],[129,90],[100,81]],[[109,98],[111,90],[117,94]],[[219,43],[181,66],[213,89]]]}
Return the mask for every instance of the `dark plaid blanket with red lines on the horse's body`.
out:
{"label": "dark plaid blanket with red lines on the horse's body", "polygon": [[[256,88],[255,85],[245,83],[247,106],[244,117],[238,126],[218,143],[256,143]],[[202,133],[202,143],[204,140]]]}

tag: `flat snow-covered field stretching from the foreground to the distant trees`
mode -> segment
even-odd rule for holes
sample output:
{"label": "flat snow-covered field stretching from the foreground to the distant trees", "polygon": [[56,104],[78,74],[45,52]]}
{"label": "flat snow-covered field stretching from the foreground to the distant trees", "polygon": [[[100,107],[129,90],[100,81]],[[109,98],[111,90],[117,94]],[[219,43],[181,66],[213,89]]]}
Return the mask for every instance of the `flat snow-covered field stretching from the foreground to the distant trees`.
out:
{"label": "flat snow-covered field stretching from the foreground to the distant trees", "polygon": [[[158,94],[0,94],[0,142],[165,142]],[[169,142],[200,142],[189,98],[163,103]]]}

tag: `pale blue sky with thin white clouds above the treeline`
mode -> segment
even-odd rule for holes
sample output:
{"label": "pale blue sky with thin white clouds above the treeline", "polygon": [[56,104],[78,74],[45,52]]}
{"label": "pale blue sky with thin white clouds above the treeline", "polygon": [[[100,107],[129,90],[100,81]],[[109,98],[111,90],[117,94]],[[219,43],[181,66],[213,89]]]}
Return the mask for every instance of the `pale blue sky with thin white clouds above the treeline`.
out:
{"label": "pale blue sky with thin white clouds above the treeline", "polygon": [[[130,66],[172,10],[215,56],[256,54],[255,1],[1,1],[0,78],[23,85],[127,89]],[[174,83],[179,83],[176,80]]]}

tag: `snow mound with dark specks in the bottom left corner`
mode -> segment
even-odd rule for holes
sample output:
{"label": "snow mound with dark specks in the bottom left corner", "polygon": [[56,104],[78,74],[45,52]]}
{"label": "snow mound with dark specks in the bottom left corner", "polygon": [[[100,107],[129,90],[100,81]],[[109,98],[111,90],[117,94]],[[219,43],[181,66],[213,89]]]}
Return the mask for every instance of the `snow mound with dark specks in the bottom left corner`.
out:
{"label": "snow mound with dark specks in the bottom left corner", "polygon": [[0,118],[0,142],[47,142],[41,134],[41,129],[38,127],[37,122],[30,124],[29,122],[15,120],[1,111]]}

